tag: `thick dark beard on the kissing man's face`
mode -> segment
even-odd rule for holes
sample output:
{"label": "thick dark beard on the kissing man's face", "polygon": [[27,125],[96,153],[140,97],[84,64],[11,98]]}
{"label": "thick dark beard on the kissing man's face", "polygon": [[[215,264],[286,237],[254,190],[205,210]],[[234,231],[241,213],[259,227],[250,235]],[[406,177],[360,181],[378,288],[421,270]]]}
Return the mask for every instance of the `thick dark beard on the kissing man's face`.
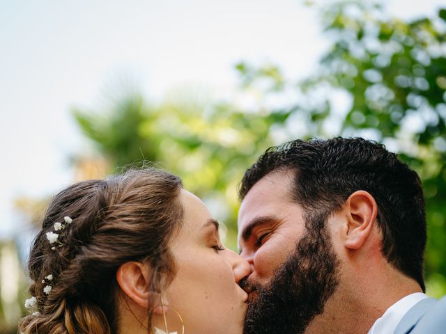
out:
{"label": "thick dark beard on the kissing man's face", "polygon": [[320,218],[307,229],[295,252],[262,287],[244,282],[254,289],[249,296],[245,334],[303,333],[323,312],[324,305],[339,284],[339,260],[330,235]]}

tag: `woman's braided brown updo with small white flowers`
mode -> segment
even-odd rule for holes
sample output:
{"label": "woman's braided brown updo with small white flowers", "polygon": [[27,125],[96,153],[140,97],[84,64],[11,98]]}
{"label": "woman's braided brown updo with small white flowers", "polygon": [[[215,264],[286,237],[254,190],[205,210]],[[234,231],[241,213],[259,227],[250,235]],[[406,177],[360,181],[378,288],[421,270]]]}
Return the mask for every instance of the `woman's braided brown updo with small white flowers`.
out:
{"label": "woman's braided brown updo with small white flowers", "polygon": [[[79,182],[58,193],[29,255],[29,292],[38,313],[22,318],[20,332],[116,333],[121,264],[150,264],[153,292],[174,278],[168,244],[183,218],[181,186],[175,175],[146,168]],[[56,232],[61,246],[49,244],[47,232],[65,216],[72,223]],[[51,281],[45,278],[49,274]],[[45,294],[49,284],[51,292]]]}

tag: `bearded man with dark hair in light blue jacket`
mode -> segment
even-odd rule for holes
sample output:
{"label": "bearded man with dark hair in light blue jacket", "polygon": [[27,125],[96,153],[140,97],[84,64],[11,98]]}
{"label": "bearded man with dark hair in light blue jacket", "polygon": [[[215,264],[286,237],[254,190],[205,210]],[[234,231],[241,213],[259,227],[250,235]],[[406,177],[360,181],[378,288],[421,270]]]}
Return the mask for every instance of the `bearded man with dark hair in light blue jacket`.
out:
{"label": "bearded man with dark hair in light blue jacket", "polygon": [[446,333],[417,173],[362,138],[270,148],[240,185],[245,333]]}

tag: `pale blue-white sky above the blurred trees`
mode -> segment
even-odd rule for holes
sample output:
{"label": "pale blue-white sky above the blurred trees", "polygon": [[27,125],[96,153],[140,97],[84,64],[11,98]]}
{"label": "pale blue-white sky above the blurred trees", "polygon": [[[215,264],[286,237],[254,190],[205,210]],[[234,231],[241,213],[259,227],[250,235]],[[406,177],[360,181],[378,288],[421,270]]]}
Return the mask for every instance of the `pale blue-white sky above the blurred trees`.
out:
{"label": "pale blue-white sky above the blurred trees", "polygon": [[[443,1],[389,0],[399,17]],[[328,45],[298,0],[1,0],[0,239],[17,234],[18,196],[72,182],[69,157],[88,150],[73,106],[100,106],[127,78],[152,100],[199,84],[236,88],[238,61],[270,61],[298,79]]]}

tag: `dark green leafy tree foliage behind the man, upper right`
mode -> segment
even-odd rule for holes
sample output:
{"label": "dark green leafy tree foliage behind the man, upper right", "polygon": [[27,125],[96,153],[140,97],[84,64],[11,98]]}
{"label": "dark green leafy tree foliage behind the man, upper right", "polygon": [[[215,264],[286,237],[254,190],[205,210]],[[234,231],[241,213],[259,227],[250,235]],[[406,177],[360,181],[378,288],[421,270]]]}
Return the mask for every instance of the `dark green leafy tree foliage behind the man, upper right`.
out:
{"label": "dark green leafy tree foliage behind the man, upper right", "polygon": [[401,22],[364,2],[325,9],[333,47],[321,61],[322,74],[304,87],[328,84],[348,92],[344,133],[376,129],[378,139],[393,142],[420,173],[429,223],[429,287],[445,294],[446,10]]}

